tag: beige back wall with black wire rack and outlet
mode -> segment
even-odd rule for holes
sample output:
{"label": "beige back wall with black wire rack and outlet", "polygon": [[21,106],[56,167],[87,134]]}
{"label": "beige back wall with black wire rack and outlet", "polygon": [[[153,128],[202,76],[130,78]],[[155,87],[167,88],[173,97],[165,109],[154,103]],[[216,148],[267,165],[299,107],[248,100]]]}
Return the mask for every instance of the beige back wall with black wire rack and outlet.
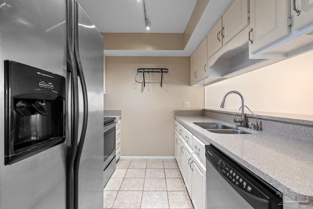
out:
{"label": "beige back wall with black wire rack and outlet", "polygon": [[[106,57],[104,110],[122,110],[122,156],[174,156],[174,110],[202,109],[203,87],[190,87],[189,57]],[[167,68],[159,83],[134,84],[138,68]],[[137,76],[137,79],[139,77]]]}

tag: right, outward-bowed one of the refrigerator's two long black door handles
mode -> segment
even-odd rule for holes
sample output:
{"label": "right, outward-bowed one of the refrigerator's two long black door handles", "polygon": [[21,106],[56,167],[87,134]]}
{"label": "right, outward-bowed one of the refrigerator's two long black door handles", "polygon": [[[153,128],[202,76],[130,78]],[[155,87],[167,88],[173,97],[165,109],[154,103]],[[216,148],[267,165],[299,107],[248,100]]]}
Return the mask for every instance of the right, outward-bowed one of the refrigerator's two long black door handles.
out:
{"label": "right, outward-bowed one of the refrigerator's two long black door handles", "polygon": [[74,1],[74,58],[76,61],[77,73],[81,82],[82,86],[82,93],[83,93],[83,106],[84,106],[84,113],[83,113],[83,125],[82,125],[82,132],[81,137],[78,142],[76,157],[74,162],[74,179],[73,179],[73,208],[78,209],[78,180],[79,180],[79,163],[80,158],[82,155],[82,150],[84,146],[86,131],[87,131],[87,124],[88,124],[88,96],[87,96],[87,87],[83,72],[83,67],[80,59],[79,54],[79,32],[78,32],[78,3]]}

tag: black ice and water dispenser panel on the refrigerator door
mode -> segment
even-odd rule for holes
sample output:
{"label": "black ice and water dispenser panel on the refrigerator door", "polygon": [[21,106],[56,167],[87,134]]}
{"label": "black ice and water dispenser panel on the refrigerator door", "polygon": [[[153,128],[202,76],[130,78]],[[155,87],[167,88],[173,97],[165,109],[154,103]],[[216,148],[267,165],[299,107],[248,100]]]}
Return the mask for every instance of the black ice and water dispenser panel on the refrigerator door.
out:
{"label": "black ice and water dispenser panel on the refrigerator door", "polygon": [[4,61],[4,164],[65,141],[65,77]]}

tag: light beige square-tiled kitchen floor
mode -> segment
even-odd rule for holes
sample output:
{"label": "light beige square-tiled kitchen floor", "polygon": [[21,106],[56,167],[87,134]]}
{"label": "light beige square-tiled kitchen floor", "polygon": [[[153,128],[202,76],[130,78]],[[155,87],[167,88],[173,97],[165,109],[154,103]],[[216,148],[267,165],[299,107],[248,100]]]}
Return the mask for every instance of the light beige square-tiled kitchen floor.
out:
{"label": "light beige square-tiled kitchen floor", "polygon": [[119,160],[104,209],[193,209],[175,160]]}

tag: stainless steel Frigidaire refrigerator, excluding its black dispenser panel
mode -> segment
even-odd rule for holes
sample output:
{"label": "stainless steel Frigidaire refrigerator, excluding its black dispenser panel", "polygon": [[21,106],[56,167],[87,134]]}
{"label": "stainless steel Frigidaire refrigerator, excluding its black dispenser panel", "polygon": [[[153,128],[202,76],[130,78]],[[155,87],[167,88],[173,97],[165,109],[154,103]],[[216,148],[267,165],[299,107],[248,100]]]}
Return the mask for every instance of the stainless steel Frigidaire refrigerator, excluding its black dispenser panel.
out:
{"label": "stainless steel Frigidaire refrigerator, excluding its black dispenser panel", "polygon": [[[6,165],[5,61],[66,81],[65,142]],[[102,209],[103,37],[75,1],[0,0],[0,86],[0,209]]]}

